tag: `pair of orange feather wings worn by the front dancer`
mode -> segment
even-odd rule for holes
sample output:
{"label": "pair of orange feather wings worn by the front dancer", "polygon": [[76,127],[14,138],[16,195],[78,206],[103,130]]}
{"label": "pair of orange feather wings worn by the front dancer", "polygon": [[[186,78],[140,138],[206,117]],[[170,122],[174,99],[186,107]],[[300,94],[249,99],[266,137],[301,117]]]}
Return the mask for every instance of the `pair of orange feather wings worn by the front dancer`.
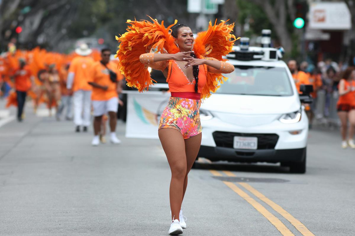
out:
{"label": "pair of orange feather wings worn by the front dancer", "polygon": [[[178,21],[175,20],[175,23],[169,25],[168,28],[164,27],[164,21],[161,24],[156,19],[152,19],[152,21],[153,23],[146,20],[127,20],[127,23],[130,24],[127,32],[120,37],[116,36],[116,40],[120,43],[116,57],[120,60],[121,73],[125,75],[127,85],[137,88],[140,92],[148,90],[154,81],[146,66],[140,62],[141,54],[148,53],[152,49],[169,54],[180,52],[171,35],[171,27]],[[217,24],[216,20],[212,25],[212,22],[209,22],[208,30],[198,33],[194,41],[193,51],[196,57],[212,57],[219,61],[226,61],[222,56],[232,51],[234,42],[237,40],[231,34],[233,28],[234,23],[226,24],[225,21],[222,21]],[[205,68],[207,68],[206,65]],[[202,89],[201,99],[211,96],[211,92],[215,92],[219,88],[219,84],[223,84],[223,81],[228,79],[222,74],[206,72],[207,81]]]}

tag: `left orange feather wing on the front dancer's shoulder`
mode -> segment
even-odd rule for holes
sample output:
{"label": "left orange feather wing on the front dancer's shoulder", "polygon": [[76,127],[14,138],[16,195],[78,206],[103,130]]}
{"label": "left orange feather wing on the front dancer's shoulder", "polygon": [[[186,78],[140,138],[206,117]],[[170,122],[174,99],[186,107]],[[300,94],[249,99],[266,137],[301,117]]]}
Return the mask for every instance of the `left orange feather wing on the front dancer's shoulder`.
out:
{"label": "left orange feather wing on the front dancer's shoulder", "polygon": [[177,21],[165,28],[164,21],[159,24],[156,19],[151,19],[153,22],[127,20],[130,24],[127,32],[120,37],[116,36],[120,46],[115,56],[120,60],[120,71],[125,75],[127,85],[137,88],[140,92],[148,90],[154,81],[148,69],[140,62],[141,54],[148,53],[152,49],[160,53],[178,52],[178,48],[174,45],[174,38],[170,34],[171,27]]}

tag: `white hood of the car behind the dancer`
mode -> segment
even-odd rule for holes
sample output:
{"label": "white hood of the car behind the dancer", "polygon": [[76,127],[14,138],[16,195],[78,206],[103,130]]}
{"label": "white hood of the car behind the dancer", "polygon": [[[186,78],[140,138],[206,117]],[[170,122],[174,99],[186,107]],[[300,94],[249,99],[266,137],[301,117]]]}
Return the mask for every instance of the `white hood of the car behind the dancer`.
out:
{"label": "white hood of the car behind the dancer", "polygon": [[201,109],[240,115],[279,115],[297,111],[300,106],[297,96],[212,94],[203,101]]}

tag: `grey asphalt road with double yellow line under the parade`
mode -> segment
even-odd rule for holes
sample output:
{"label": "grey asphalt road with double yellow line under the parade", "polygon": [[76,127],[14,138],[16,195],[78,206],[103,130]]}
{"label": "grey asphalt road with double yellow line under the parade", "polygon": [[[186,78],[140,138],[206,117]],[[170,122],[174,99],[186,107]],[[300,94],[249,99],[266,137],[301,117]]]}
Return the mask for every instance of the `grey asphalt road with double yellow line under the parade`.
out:
{"label": "grey asphalt road with double yellow line under the parade", "polygon": [[[92,147],[91,129],[75,133],[72,122],[30,109],[23,123],[0,127],[0,235],[168,235],[160,142],[124,130],[119,123],[121,145]],[[307,152],[306,174],[201,158],[189,174],[182,235],[355,235],[355,150],[341,149],[337,132],[312,130]]]}

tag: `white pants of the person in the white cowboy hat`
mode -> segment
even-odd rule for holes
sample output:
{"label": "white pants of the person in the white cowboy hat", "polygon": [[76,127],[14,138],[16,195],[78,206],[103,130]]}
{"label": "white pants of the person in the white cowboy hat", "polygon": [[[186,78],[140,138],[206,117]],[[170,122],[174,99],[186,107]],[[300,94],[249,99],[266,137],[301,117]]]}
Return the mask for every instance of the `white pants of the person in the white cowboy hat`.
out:
{"label": "white pants of the person in the white cowboy hat", "polygon": [[73,103],[75,125],[89,126],[91,111],[91,91],[75,91],[73,94]]}

